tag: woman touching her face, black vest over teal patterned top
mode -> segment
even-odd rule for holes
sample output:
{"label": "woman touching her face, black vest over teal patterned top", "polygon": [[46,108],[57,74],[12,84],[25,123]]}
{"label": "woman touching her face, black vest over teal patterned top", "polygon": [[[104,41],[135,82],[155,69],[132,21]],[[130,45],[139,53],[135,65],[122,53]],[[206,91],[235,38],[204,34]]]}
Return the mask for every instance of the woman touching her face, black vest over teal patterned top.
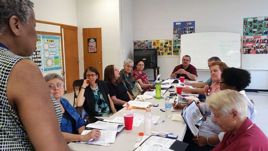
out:
{"label": "woman touching her face, black vest over teal patterned top", "polygon": [[99,76],[99,71],[95,67],[87,67],[84,83],[75,100],[75,105],[82,106],[90,117],[110,116],[116,113],[107,84],[99,80]]}

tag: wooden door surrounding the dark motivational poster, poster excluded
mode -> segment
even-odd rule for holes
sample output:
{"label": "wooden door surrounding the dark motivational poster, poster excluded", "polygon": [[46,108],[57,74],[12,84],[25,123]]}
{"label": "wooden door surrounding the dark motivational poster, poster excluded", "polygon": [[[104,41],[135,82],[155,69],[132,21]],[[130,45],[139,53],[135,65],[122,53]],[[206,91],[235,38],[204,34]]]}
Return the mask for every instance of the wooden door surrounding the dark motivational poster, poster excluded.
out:
{"label": "wooden door surrounding the dark motivational poster, poster excluded", "polygon": [[[88,52],[88,39],[96,38],[97,52]],[[100,73],[102,80],[102,36],[101,28],[83,28],[84,69],[94,66]]]}

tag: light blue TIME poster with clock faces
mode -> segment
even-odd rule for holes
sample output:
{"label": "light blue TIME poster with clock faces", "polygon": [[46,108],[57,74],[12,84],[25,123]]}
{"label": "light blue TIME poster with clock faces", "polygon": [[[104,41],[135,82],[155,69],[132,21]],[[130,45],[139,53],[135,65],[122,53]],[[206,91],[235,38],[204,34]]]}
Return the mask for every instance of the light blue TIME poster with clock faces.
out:
{"label": "light blue TIME poster with clock faces", "polygon": [[60,36],[42,35],[44,71],[60,70],[61,65],[61,40]]}

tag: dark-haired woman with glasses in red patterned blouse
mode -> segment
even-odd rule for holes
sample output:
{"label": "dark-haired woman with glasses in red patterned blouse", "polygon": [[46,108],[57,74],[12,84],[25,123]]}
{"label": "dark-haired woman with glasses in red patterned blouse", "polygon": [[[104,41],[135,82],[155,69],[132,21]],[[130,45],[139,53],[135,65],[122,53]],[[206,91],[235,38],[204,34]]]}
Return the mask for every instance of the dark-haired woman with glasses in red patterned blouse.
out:
{"label": "dark-haired woman with glasses in red patterned blouse", "polygon": [[143,92],[149,91],[152,84],[148,81],[147,75],[142,72],[144,69],[144,61],[142,59],[137,60],[136,69],[132,71],[132,75],[136,82],[140,83]]}

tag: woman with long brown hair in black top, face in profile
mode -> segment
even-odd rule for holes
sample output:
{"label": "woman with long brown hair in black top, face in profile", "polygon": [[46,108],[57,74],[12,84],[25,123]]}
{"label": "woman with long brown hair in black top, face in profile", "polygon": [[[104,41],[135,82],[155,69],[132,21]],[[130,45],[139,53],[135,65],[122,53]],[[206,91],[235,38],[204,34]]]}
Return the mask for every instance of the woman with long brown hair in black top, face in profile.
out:
{"label": "woman with long brown hair in black top, face in profile", "polygon": [[133,100],[130,93],[126,91],[124,84],[118,79],[119,70],[114,65],[104,69],[104,81],[107,83],[111,99],[117,111],[121,110],[126,102]]}

